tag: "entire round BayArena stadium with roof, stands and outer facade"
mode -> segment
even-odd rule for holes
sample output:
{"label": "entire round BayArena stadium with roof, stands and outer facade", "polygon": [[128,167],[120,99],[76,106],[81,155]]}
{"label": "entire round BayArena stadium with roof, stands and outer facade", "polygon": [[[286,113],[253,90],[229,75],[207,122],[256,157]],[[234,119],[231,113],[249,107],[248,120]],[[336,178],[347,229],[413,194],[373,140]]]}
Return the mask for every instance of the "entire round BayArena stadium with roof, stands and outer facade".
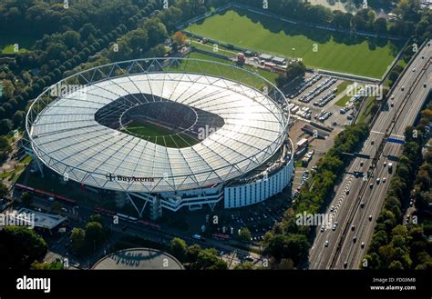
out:
{"label": "entire round BayArena stadium with roof, stands and outer facade", "polygon": [[[139,59],[47,88],[26,115],[28,152],[89,188],[124,194],[142,216],[236,208],[282,192],[293,175],[283,93],[234,65]],[[143,203],[139,208],[139,202]]]}

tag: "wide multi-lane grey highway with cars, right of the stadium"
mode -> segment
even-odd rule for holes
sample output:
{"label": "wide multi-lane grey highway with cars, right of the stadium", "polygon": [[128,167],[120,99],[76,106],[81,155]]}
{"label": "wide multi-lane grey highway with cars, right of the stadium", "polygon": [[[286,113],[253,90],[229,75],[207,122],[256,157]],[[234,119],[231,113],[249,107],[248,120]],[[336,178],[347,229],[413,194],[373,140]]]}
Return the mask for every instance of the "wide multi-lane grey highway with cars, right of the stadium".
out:
{"label": "wide multi-lane grey highway with cars, right of the stadium", "polygon": [[[393,169],[396,169],[392,156],[397,157],[402,150],[401,145],[388,143],[385,136],[403,139],[406,126],[413,125],[432,85],[431,54],[432,45],[421,48],[388,95],[387,105],[376,118],[361,149],[361,153],[370,155],[370,159],[355,157],[348,165],[342,183],[336,187],[334,199],[329,204],[334,206],[334,211],[331,212],[329,207],[325,212],[332,214],[333,223],[337,222],[337,226],[335,230],[329,227],[324,232],[321,232],[321,226],[317,227],[309,252],[310,269],[360,267],[394,174],[384,164],[391,162]],[[393,107],[391,102],[394,102]],[[375,155],[377,160],[374,161]],[[368,175],[355,177],[355,171]],[[379,184],[377,178],[380,178]],[[383,178],[386,178],[386,183]],[[328,246],[324,246],[326,241]],[[364,246],[362,243],[365,243]]]}

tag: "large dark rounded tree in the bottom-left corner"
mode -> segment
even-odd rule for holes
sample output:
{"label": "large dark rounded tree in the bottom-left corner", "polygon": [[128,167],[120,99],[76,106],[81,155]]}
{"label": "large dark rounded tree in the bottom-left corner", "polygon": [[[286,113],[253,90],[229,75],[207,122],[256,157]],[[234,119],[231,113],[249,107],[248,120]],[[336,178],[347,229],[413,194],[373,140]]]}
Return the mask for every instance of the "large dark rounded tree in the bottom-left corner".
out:
{"label": "large dark rounded tree in the bottom-left corner", "polygon": [[44,239],[26,226],[5,226],[0,240],[1,269],[29,269],[43,259],[48,248]]}

